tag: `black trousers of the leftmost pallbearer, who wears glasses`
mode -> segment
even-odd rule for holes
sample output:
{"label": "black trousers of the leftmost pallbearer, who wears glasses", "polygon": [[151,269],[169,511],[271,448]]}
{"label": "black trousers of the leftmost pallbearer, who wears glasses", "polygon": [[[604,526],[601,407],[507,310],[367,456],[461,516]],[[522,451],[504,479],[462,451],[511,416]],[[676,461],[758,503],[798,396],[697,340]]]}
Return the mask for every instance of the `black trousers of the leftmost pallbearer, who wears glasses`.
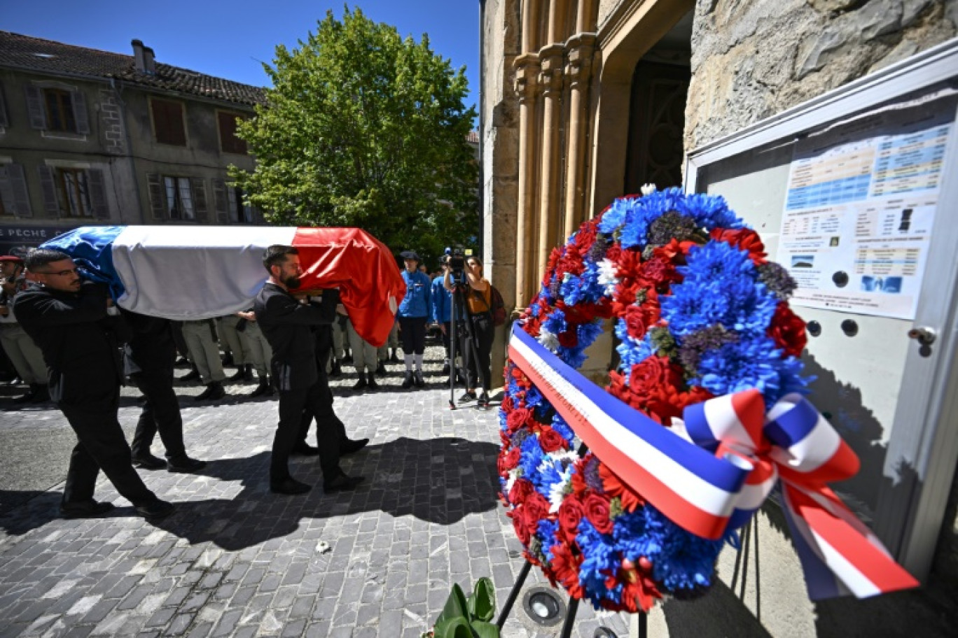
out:
{"label": "black trousers of the leftmost pallbearer, who wears glasses", "polygon": [[70,455],[70,467],[63,487],[63,502],[77,503],[93,498],[97,475],[106,477],[133,505],[156,500],[140,474],[133,469],[129,446],[117,420],[120,387],[112,395],[87,398],[80,403],[59,402],[57,407],[76,432],[79,442]]}

